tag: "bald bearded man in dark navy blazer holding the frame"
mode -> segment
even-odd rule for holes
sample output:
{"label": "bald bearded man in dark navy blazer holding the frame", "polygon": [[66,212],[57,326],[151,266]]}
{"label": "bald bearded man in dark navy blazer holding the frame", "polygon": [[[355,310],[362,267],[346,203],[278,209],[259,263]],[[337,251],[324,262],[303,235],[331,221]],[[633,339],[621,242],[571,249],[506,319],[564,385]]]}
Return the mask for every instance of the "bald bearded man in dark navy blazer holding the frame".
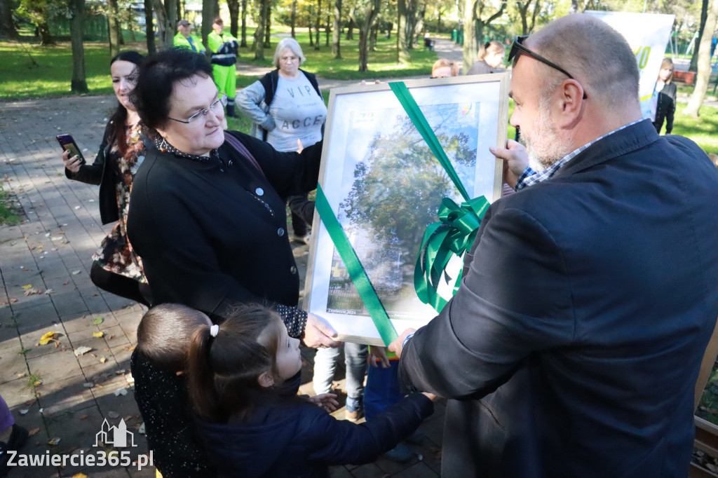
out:
{"label": "bald bearded man in dark navy blazer holding the frame", "polygon": [[400,380],[449,398],[444,477],[686,477],[718,172],[641,121],[633,52],[600,20],[556,20],[513,57],[526,149],[493,152],[546,169],[490,207],[442,313],[389,347]]}

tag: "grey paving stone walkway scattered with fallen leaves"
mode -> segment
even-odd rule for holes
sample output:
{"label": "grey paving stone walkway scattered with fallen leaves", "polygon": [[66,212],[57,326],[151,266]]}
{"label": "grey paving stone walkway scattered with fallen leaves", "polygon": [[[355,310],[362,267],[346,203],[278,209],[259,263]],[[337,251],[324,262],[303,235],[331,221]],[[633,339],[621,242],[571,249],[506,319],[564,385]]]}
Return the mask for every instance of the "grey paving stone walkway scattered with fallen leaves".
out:
{"label": "grey paving stone walkway scattered with fallen leaves", "polygon": [[[59,133],[72,134],[93,161],[114,105],[110,95],[0,102],[0,186],[24,215],[20,225],[0,226],[0,395],[17,423],[32,433],[25,454],[109,451],[109,446],[95,446],[98,433],[103,421],[116,426],[121,419],[136,446],[119,450],[129,451],[131,461],[148,452],[129,367],[144,307],[90,281],[91,256],[112,225],[101,225],[98,187],[65,178],[55,140]],[[294,245],[302,274],[307,250]],[[57,339],[39,345],[47,332],[57,332]],[[76,356],[80,347],[90,352]],[[303,355],[302,390],[311,393],[314,353],[304,349]],[[339,380],[337,387],[342,385]],[[379,459],[360,467],[333,467],[332,477],[437,477],[442,428],[439,403],[421,427],[427,438],[412,446],[416,456],[408,464]],[[67,462],[19,467],[9,476],[80,473],[90,478],[155,474],[153,467],[138,471],[136,464]]]}

